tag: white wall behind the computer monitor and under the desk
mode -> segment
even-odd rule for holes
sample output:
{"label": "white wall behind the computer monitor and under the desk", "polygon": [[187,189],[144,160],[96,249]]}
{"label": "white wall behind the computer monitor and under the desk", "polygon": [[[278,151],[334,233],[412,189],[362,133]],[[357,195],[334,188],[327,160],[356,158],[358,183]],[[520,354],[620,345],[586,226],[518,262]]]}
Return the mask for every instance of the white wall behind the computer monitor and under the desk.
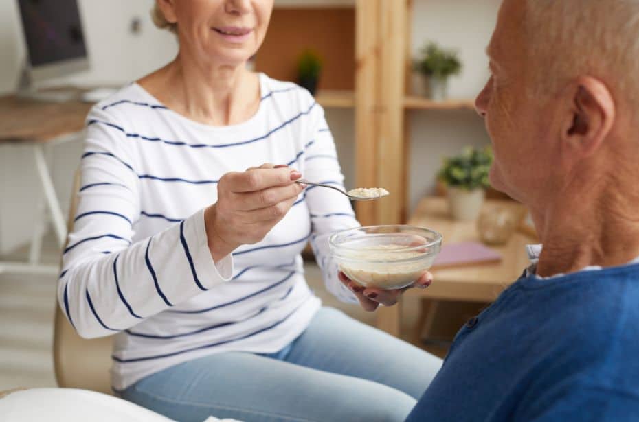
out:
{"label": "white wall behind the computer monitor and under the desk", "polygon": [[[15,0],[0,1],[0,94],[14,91],[25,46]],[[149,18],[153,0],[79,0],[91,70],[50,84],[125,84],[161,67],[177,52],[174,36],[157,30]],[[138,34],[131,20],[142,21]],[[78,165],[80,141],[60,145],[53,152],[54,183],[67,209],[71,180]],[[0,146],[0,253],[24,244],[36,217],[37,183],[30,152],[19,146]]]}

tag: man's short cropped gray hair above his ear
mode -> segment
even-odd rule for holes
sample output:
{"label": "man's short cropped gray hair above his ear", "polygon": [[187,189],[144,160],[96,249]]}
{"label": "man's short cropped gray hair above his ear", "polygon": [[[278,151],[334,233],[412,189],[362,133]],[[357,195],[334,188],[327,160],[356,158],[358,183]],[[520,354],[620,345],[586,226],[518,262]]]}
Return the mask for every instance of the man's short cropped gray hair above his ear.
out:
{"label": "man's short cropped gray hair above his ear", "polygon": [[535,86],[590,75],[639,104],[639,0],[525,1]]}

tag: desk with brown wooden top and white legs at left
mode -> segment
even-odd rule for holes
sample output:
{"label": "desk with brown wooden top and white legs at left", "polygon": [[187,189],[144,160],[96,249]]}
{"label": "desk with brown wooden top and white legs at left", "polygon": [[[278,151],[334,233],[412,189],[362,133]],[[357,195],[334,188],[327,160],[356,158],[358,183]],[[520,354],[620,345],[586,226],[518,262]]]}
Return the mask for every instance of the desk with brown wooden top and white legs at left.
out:
{"label": "desk with brown wooden top and white legs at left", "polygon": [[[38,180],[43,189],[42,204],[43,207],[46,205],[49,211],[60,246],[64,244],[67,237],[66,223],[46,157],[52,146],[81,136],[85,117],[90,108],[91,104],[80,101],[52,103],[22,99],[14,95],[0,97],[0,147],[7,144],[25,145],[32,150]],[[29,169],[25,169],[26,171]],[[0,274],[2,272],[57,274],[57,266],[38,264],[41,238],[47,224],[44,209],[41,211],[41,220],[34,224],[29,261],[25,263],[0,261]]]}

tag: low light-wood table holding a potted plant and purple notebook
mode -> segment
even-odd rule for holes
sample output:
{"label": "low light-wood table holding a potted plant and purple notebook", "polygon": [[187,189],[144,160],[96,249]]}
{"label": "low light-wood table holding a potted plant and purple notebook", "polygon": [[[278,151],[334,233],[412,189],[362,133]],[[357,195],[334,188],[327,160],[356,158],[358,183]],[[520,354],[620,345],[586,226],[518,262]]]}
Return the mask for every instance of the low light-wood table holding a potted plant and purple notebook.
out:
{"label": "low light-wood table holding a potted plant and purple notebook", "polygon": [[[486,200],[484,207],[499,205],[508,208],[517,216],[526,209],[517,202],[508,200]],[[459,222],[449,217],[445,198],[426,197],[407,224],[425,226],[442,233],[444,244],[464,241],[479,241],[476,222]],[[535,240],[515,231],[507,244],[493,246],[502,255],[499,263],[462,266],[458,268],[433,268],[434,283],[425,290],[410,289],[405,296],[419,296],[443,301],[492,302],[508,285],[530,265],[526,255],[526,244]],[[392,307],[379,307],[377,327],[394,336],[399,336],[401,301]]]}

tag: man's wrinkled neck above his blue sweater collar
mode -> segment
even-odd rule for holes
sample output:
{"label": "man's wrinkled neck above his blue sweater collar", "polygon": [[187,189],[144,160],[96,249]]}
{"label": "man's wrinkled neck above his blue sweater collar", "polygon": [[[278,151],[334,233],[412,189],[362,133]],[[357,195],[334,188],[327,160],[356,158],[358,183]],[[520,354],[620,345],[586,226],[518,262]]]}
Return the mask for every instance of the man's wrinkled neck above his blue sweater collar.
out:
{"label": "man's wrinkled neck above his blue sweater collar", "polygon": [[543,243],[537,275],[619,266],[639,256],[639,198],[612,186],[572,189],[570,196],[533,211]]}

